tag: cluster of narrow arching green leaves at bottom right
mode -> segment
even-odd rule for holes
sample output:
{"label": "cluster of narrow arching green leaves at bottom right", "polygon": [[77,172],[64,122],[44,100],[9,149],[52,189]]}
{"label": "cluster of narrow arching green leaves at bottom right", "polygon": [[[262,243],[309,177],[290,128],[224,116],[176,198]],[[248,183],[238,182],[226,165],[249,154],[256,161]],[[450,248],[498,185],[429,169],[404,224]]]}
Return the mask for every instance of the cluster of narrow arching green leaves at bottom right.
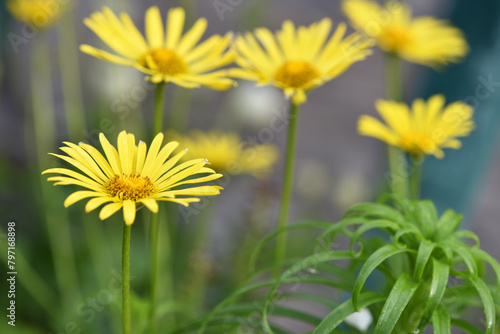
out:
{"label": "cluster of narrow arching green leaves at bottom right", "polygon": [[[462,216],[448,210],[438,217],[430,201],[388,200],[391,205],[354,205],[334,224],[303,222],[272,233],[254,252],[247,282],[209,315],[174,332],[289,333],[275,321],[284,317],[309,324],[313,334],[360,333],[345,320],[368,308],[372,333],[422,333],[430,325],[434,333],[451,333],[451,327],[494,333],[500,265],[479,248],[474,233],[459,229]],[[269,273],[277,268],[254,270],[266,243],[280,233],[311,228],[322,231],[312,255],[290,260],[273,279]],[[341,236],[347,237],[349,250],[336,249]],[[485,281],[488,264],[496,275],[491,285]],[[370,276],[376,291],[365,287]],[[306,292],[303,287],[310,284],[320,288]],[[328,296],[329,288],[337,295]],[[320,317],[289,306],[297,300],[329,313]],[[477,307],[484,310],[484,329],[461,318]]]}

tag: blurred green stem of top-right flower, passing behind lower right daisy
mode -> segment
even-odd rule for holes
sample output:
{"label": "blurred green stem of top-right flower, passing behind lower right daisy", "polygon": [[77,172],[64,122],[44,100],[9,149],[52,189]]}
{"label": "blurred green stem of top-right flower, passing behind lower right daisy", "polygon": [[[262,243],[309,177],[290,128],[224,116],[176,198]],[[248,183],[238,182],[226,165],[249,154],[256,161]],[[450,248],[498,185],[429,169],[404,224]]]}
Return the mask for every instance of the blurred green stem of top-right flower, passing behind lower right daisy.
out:
{"label": "blurred green stem of top-right flower, passing behind lower right daisy", "polygon": [[[386,54],[386,91],[387,98],[394,101],[401,101],[402,80],[401,61],[394,54]],[[394,194],[408,196],[408,171],[406,155],[400,148],[389,146],[389,172],[391,190]]]}

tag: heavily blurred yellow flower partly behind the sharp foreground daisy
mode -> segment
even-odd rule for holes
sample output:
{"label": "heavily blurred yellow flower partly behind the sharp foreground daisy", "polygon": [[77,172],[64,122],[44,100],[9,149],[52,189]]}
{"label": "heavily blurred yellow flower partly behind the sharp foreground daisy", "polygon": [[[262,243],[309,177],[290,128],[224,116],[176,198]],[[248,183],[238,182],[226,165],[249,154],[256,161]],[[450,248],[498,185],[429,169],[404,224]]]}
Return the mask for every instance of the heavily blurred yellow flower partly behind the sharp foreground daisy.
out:
{"label": "heavily blurred yellow flower partly behind the sharp foreground daisy", "polygon": [[255,177],[267,176],[278,160],[278,148],[271,144],[246,146],[236,133],[221,131],[192,131],[187,135],[175,132],[167,134],[189,147],[186,159],[201,156],[210,161],[210,167],[217,172],[228,172],[232,175],[251,174]]}

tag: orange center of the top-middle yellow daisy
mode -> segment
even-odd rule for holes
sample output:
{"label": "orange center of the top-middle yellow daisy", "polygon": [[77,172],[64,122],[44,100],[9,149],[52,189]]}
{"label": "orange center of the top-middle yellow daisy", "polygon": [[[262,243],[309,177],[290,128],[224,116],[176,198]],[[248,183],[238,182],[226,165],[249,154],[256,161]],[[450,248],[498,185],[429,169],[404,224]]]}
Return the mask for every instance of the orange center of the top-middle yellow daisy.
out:
{"label": "orange center of the top-middle yellow daisy", "polygon": [[274,81],[284,87],[300,88],[320,77],[318,70],[305,61],[289,61],[274,74]]}

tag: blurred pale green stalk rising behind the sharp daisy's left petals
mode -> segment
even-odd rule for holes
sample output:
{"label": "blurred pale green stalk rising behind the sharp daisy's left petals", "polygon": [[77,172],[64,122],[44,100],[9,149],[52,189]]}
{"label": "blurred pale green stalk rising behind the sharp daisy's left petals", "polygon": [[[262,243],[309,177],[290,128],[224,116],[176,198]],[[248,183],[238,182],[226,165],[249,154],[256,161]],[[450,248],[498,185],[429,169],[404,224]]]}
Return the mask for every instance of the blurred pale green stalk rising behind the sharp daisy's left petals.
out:
{"label": "blurred pale green stalk rising behind the sharp daisy's left petals", "polygon": [[62,18],[64,25],[58,30],[59,65],[61,69],[61,87],[68,135],[74,140],[82,136],[86,129],[83,107],[80,69],[77,54],[73,11],[68,11]]}

